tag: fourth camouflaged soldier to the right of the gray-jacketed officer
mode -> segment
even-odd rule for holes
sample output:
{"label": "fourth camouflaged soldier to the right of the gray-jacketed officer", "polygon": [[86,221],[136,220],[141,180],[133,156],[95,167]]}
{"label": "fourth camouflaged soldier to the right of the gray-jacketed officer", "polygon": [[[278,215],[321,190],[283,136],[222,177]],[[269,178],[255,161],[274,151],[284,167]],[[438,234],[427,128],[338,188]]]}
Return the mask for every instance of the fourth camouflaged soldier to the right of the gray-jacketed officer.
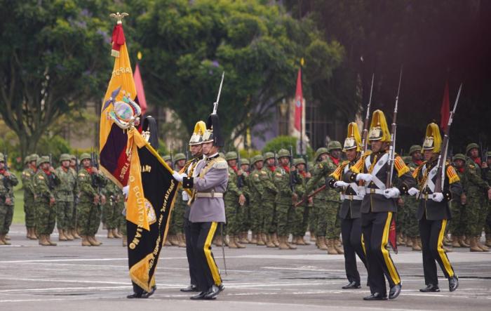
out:
{"label": "fourth camouflaged soldier to the right of the gray-jacketed officer", "polygon": [[[264,231],[257,245],[266,245],[267,247],[277,247],[278,242],[278,213],[276,211],[276,196],[278,188],[273,183],[274,172],[276,171],[276,159],[273,152],[264,153],[266,166],[262,168],[260,179],[262,181],[262,213],[264,218]],[[262,242],[261,242],[262,240]]]}

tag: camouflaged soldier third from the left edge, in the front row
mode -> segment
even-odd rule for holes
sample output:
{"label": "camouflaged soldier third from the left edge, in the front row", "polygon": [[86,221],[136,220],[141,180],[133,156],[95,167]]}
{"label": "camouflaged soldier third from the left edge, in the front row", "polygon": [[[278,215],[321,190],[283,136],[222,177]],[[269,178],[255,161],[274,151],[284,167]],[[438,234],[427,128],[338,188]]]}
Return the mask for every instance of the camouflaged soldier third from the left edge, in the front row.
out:
{"label": "camouflaged soldier third from the left edge, in the front row", "polygon": [[38,171],[33,178],[34,202],[36,204],[36,230],[39,245],[56,246],[51,241],[56,223],[55,187],[60,184],[60,178],[55,174],[55,168],[50,165],[49,157],[39,157]]}

